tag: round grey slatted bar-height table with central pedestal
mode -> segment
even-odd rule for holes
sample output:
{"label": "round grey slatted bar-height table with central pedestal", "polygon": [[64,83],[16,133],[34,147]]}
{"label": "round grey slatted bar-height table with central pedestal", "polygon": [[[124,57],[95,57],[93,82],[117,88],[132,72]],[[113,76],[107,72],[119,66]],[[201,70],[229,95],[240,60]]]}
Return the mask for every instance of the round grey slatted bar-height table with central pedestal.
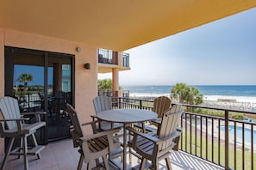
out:
{"label": "round grey slatted bar-height table with central pedestal", "polygon": [[97,118],[109,121],[112,123],[123,124],[123,169],[126,167],[126,154],[127,154],[127,132],[126,127],[128,124],[140,123],[157,118],[157,113],[140,109],[113,109],[97,113]]}

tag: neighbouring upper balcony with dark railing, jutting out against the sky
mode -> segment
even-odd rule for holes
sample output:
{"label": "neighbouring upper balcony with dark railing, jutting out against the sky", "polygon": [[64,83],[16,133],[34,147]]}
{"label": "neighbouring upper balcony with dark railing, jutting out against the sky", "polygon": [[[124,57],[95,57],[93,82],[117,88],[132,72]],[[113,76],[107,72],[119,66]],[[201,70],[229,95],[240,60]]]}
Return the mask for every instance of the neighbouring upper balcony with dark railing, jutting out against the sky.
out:
{"label": "neighbouring upper balcony with dark railing, jutting out against the sky", "polygon": [[129,54],[125,52],[113,52],[106,49],[98,49],[98,73],[109,73],[112,69],[130,70]]}

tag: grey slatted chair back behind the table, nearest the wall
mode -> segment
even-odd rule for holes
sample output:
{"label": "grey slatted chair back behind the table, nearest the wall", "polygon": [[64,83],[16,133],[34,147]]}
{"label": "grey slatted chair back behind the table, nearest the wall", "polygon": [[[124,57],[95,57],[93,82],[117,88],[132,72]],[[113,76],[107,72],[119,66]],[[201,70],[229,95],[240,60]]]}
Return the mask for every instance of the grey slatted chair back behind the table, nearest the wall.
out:
{"label": "grey slatted chair back behind the table, nearest the wall", "polygon": [[93,105],[96,113],[110,110],[112,108],[112,99],[106,95],[99,95],[93,99]]}

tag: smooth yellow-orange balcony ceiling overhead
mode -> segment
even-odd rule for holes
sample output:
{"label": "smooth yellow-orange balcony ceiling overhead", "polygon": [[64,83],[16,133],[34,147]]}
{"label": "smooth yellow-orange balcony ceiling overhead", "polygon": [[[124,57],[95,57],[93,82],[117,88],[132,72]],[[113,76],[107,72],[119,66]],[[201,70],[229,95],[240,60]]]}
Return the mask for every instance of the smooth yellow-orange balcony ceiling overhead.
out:
{"label": "smooth yellow-orange balcony ceiling overhead", "polygon": [[1,0],[0,4],[0,27],[121,52],[252,9],[256,1]]}

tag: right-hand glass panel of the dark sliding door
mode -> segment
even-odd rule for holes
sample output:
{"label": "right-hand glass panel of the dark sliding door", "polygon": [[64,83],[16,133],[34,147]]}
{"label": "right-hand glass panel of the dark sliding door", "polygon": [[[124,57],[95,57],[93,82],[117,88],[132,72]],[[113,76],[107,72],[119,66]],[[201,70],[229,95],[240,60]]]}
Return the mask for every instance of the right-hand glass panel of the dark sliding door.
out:
{"label": "right-hand glass panel of the dark sliding door", "polygon": [[48,138],[69,137],[70,119],[66,114],[66,103],[72,104],[71,58],[61,55],[48,57]]}

